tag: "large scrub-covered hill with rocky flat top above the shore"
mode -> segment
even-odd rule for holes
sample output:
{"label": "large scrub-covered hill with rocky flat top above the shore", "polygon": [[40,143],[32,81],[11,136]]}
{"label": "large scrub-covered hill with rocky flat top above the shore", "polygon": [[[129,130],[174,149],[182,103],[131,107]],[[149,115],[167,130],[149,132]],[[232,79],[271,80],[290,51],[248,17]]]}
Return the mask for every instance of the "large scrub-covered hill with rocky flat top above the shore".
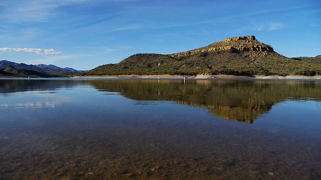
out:
{"label": "large scrub-covered hill with rocky flat top above the shore", "polygon": [[134,54],[119,63],[101,65],[81,75],[319,75],[321,63],[318,57],[315,59],[285,57],[271,45],[248,35],[174,54]]}

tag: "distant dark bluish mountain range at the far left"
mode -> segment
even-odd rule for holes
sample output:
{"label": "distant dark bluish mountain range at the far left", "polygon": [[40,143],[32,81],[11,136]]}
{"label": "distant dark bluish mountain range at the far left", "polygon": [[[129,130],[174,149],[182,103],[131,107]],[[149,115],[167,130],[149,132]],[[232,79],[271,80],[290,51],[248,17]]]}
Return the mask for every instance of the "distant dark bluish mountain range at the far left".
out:
{"label": "distant dark bluish mountain range at the far left", "polygon": [[52,64],[28,65],[25,63],[0,60],[0,76],[61,77],[81,72],[85,72],[85,70],[76,70],[70,67],[62,68]]}

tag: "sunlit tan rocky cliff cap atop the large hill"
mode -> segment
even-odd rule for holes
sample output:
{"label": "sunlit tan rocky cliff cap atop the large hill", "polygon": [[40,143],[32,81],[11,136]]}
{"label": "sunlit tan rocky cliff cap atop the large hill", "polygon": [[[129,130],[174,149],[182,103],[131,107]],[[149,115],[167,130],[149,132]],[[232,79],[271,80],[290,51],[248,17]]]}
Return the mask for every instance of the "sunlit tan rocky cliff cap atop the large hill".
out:
{"label": "sunlit tan rocky cliff cap atop the large hill", "polygon": [[262,51],[262,52],[275,52],[272,46],[257,41],[254,35],[239,36],[226,38],[222,41],[216,41],[205,47],[201,47],[186,52],[170,54],[173,57],[180,57],[186,55],[193,55],[196,53],[210,52],[210,51],[232,51],[232,52],[248,52],[248,51]]}

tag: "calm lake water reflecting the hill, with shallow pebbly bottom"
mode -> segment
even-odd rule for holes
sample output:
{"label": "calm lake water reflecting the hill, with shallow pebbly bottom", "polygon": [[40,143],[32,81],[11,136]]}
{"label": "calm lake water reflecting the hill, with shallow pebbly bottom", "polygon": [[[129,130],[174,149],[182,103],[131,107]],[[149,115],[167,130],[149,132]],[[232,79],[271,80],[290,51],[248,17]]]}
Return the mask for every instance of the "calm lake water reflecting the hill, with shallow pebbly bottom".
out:
{"label": "calm lake water reflecting the hill, with shallow pebbly bottom", "polygon": [[321,81],[0,79],[0,179],[320,179]]}

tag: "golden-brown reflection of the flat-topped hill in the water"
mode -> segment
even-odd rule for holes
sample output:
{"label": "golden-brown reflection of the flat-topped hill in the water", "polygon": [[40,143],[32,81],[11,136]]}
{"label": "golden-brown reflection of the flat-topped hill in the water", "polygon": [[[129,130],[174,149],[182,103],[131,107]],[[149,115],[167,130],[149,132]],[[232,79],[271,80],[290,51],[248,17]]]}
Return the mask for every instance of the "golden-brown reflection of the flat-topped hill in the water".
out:
{"label": "golden-brown reflection of the flat-topped hill in the water", "polygon": [[101,91],[135,100],[171,100],[208,108],[214,115],[252,123],[288,97],[321,100],[321,81],[275,80],[92,80]]}

